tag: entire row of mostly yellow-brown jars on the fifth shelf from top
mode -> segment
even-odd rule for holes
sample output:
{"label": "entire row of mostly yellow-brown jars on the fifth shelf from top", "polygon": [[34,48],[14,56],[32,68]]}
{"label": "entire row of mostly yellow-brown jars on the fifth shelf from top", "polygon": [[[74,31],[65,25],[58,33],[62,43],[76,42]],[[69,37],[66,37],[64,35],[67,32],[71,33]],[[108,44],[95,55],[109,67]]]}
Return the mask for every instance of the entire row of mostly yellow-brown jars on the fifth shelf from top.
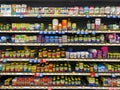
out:
{"label": "entire row of mostly yellow-brown jars on the fifth shelf from top", "polygon": [[32,65],[29,63],[0,64],[2,72],[120,72],[120,64],[112,63],[82,63],[77,62],[74,67],[70,63],[44,63]]}

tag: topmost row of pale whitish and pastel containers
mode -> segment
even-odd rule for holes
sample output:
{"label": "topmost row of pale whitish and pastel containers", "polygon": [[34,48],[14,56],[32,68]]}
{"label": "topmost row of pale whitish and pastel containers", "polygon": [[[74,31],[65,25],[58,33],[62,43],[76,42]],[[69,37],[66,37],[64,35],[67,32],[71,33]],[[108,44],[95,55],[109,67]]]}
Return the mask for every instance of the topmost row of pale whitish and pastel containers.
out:
{"label": "topmost row of pale whitish and pastel containers", "polygon": [[1,4],[1,15],[120,15],[120,6],[30,7],[26,4]]}

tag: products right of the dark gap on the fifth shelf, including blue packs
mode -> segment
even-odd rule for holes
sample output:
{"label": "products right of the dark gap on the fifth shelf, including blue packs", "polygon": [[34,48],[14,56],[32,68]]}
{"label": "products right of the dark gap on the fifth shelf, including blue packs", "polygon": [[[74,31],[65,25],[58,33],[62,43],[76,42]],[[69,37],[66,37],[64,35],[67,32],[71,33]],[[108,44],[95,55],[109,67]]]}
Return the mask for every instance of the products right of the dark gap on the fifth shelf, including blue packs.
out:
{"label": "products right of the dark gap on the fifth shelf, including blue packs", "polygon": [[120,72],[120,64],[112,63],[76,63],[76,72]]}

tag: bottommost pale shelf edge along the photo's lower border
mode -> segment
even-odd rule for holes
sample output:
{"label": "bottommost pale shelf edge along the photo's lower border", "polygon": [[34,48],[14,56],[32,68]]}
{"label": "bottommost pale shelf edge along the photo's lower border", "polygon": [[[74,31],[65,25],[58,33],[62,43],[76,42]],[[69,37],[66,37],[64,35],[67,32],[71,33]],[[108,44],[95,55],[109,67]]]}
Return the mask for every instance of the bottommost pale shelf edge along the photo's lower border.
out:
{"label": "bottommost pale shelf edge along the photo's lower border", "polygon": [[[1,89],[99,89],[99,90],[119,90],[120,87],[93,87],[93,86],[1,86]],[[50,90],[51,90],[50,89]]]}

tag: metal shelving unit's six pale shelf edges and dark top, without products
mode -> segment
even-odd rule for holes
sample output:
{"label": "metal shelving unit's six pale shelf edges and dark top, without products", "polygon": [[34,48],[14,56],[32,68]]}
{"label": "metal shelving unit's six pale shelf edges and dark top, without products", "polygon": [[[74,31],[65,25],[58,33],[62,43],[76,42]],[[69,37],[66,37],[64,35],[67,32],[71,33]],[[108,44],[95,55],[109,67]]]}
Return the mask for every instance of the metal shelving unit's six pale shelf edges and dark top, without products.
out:
{"label": "metal shelving unit's six pale shelf edges and dark top, without products", "polygon": [[[114,3],[113,3],[114,2]],[[1,0],[1,3],[5,3],[5,4],[12,4],[12,3],[16,3],[16,4],[22,4],[22,3],[26,3],[29,4],[31,6],[76,6],[76,5],[81,5],[81,6],[85,6],[86,4],[89,4],[91,6],[93,6],[94,4],[97,6],[105,6],[105,5],[119,5],[120,0]],[[48,5],[49,3],[49,5]],[[59,5],[55,4],[58,3]],[[113,18],[113,19],[120,19],[120,15],[38,15],[38,14],[32,14],[32,15],[6,15],[6,16],[0,16],[0,18],[20,18],[20,19],[24,19],[24,18],[37,18],[37,19],[41,19],[41,18],[86,18],[86,19],[90,19],[90,18]],[[120,33],[120,30],[104,30],[104,31],[93,31],[93,30],[88,30],[88,33],[97,33],[97,34],[101,34],[101,33]],[[0,30],[1,34],[14,34],[14,33],[25,33],[25,34],[80,34],[80,31],[62,31],[59,33],[59,31],[12,31],[12,30]],[[116,43],[116,44],[112,44],[112,43],[0,43],[0,46],[33,46],[33,47],[39,47],[39,46],[58,46],[58,47],[62,47],[62,46],[110,46],[110,47],[115,47],[115,46],[120,46],[120,43]],[[32,58],[33,59],[33,58]],[[22,61],[22,62],[30,62],[32,60],[31,58],[0,58],[0,62],[14,62],[14,61]],[[34,58],[36,59],[36,58]],[[37,58],[37,60],[40,62],[41,59]],[[120,59],[68,59],[68,58],[45,58],[45,61],[67,61],[67,62],[77,62],[77,61],[81,61],[81,62],[120,62]],[[76,72],[72,72],[72,73],[28,73],[28,72],[0,72],[0,76],[34,76],[34,75],[38,75],[38,76],[45,76],[45,75],[67,75],[67,76],[90,76],[91,73],[76,73]],[[120,76],[120,72],[97,72],[95,73],[95,75],[97,76]],[[78,89],[97,89],[97,90],[108,90],[108,89],[118,89],[120,90],[120,87],[104,87],[104,86],[99,86],[99,87],[90,87],[90,86],[4,86],[4,85],[0,85],[0,89],[73,89],[73,90],[78,90]]]}

